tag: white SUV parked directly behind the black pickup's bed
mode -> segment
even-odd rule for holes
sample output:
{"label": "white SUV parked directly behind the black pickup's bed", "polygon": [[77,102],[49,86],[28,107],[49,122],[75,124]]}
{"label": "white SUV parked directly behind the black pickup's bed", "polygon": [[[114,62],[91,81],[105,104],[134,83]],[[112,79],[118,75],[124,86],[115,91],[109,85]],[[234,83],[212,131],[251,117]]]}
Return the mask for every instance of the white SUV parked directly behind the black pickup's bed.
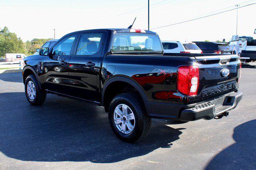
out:
{"label": "white SUV parked directly behind the black pickup's bed", "polygon": [[164,53],[202,53],[195,43],[180,41],[162,41]]}

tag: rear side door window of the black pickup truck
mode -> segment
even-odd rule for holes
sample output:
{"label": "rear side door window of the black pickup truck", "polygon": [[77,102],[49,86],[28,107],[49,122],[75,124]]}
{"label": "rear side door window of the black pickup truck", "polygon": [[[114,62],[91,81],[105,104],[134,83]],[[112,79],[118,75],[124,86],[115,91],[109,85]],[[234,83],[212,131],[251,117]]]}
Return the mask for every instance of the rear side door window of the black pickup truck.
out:
{"label": "rear side door window of the black pickup truck", "polygon": [[102,33],[82,34],[76,50],[76,55],[93,55],[98,52]]}

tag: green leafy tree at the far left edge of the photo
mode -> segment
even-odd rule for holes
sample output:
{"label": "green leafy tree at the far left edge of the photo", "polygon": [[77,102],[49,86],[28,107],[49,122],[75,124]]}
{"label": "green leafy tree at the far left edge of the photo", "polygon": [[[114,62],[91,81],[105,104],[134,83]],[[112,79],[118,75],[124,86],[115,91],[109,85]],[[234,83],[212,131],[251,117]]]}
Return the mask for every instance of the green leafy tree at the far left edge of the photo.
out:
{"label": "green leafy tree at the far left edge of the photo", "polygon": [[7,27],[0,29],[0,56],[6,53],[26,53],[25,45],[16,33],[11,33]]}

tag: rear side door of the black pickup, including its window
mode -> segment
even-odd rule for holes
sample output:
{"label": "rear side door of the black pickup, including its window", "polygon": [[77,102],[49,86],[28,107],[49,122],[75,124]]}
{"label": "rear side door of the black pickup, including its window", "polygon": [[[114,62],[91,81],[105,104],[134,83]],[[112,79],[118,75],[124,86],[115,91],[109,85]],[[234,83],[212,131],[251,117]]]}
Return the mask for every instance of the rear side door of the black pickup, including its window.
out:
{"label": "rear side door of the black pickup, including its window", "polygon": [[99,102],[97,80],[105,31],[85,31],[79,35],[78,45],[69,61],[70,91],[72,96]]}

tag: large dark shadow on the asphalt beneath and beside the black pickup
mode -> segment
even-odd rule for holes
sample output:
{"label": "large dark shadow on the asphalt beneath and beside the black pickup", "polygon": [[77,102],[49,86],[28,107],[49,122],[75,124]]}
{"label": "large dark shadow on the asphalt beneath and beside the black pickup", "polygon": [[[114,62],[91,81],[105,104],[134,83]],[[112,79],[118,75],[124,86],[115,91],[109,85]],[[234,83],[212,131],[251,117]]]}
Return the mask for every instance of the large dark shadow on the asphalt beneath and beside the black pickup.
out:
{"label": "large dark shadow on the asphalt beneath and beside the black pickup", "polygon": [[182,134],[153,119],[148,137],[129,144],[114,135],[102,107],[54,95],[31,106],[24,93],[0,93],[0,102],[0,151],[18,160],[118,162],[170,148]]}

